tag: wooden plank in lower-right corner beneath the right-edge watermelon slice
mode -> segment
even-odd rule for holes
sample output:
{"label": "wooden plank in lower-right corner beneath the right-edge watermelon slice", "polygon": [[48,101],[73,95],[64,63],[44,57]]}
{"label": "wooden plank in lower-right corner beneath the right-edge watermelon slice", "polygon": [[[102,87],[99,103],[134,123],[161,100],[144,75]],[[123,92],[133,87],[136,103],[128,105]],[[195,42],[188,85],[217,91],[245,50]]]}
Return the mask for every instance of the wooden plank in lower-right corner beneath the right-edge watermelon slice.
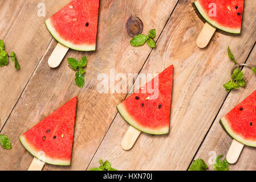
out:
{"label": "wooden plank in lower-right corner beneath the right-edge watermelon slice", "polygon": [[[246,63],[255,64],[255,58],[256,47],[254,47]],[[250,68],[243,68],[243,73],[245,76],[246,87],[239,90],[233,90],[229,93],[224,102],[224,105],[220,110],[220,113],[218,113],[216,119],[214,120],[213,126],[211,127],[207,137],[202,143],[202,146],[200,147],[200,150],[198,150],[194,159],[202,158],[207,164],[210,164],[213,162],[213,154],[223,154],[224,157],[226,156],[233,139],[225,133],[225,131],[220,126],[219,121],[222,117],[224,117],[225,114],[233,109],[234,106],[243,101],[255,90],[256,76],[254,75],[253,71],[251,71]],[[210,169],[214,170],[212,165],[208,166]],[[256,170],[255,148],[248,146],[243,147],[238,162],[230,165],[230,170]]]}

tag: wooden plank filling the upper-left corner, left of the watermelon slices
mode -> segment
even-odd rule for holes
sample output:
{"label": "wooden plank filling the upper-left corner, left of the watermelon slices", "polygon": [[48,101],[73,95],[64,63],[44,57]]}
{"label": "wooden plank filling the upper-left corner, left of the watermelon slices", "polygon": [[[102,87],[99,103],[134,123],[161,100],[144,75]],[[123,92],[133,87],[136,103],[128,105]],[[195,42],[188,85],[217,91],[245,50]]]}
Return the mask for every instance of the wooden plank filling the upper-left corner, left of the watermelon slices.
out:
{"label": "wooden plank filling the upper-left corner, left of the watermelon slices", "polygon": [[0,39],[9,54],[16,53],[21,65],[21,70],[16,71],[9,60],[7,67],[0,68],[0,131],[52,39],[45,28],[45,18],[38,16],[38,4],[46,5],[48,15],[68,1],[59,5],[56,1],[0,1]]}

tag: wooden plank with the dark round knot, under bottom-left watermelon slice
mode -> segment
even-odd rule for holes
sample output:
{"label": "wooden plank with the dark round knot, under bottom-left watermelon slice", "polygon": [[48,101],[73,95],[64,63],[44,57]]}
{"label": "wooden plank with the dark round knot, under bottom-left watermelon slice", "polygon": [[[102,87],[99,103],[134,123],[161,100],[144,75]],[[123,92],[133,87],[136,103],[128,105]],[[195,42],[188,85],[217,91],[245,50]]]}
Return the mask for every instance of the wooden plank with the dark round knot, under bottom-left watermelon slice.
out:
{"label": "wooden plank with the dark round knot, under bottom-left watermelon slice", "polygon": [[[10,137],[13,150],[1,150],[0,169],[26,170],[32,162],[32,156],[19,142],[19,135],[73,96],[78,96],[78,109],[72,164],[70,167],[46,164],[44,169],[86,169],[116,115],[115,106],[126,96],[97,92],[100,82],[97,76],[100,73],[109,75],[110,69],[115,69],[116,73],[138,73],[152,50],[147,45],[138,48],[130,45],[131,37],[125,30],[127,19],[130,15],[138,16],[143,20],[144,33],[156,28],[158,38],[176,2],[100,1],[97,51],[69,51],[56,69],[50,69],[47,64],[56,46],[56,42],[52,42],[3,128],[2,133]],[[84,55],[88,57],[86,85],[79,89],[74,81],[75,72],[68,67],[67,57],[80,59]]]}

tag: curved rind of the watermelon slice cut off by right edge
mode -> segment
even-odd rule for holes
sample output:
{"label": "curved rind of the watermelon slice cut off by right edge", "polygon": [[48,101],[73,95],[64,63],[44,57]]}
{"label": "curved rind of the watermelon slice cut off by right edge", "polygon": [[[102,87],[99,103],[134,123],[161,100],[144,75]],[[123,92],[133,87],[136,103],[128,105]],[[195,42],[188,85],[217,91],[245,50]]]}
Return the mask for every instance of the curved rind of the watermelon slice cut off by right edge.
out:
{"label": "curved rind of the watermelon slice cut off by right edge", "polygon": [[237,140],[238,142],[245,144],[246,146],[250,146],[250,147],[256,147],[256,140],[248,140],[245,139],[243,137],[241,137],[241,135],[235,133],[232,129],[231,126],[229,124],[229,120],[227,118],[222,118],[221,119],[221,123],[224,126],[225,130],[227,131],[227,133],[234,138],[235,140]]}

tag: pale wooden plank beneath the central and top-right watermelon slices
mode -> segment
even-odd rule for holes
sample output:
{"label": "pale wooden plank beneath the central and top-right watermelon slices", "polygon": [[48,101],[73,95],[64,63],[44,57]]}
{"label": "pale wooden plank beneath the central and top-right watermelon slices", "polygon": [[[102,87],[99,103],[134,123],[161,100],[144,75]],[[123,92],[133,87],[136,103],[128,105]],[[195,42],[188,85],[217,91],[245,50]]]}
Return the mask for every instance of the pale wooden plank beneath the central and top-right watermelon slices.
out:
{"label": "pale wooden plank beneath the central and top-right watermelon slices", "polygon": [[226,97],[222,84],[233,67],[227,47],[242,62],[255,43],[255,5],[245,2],[241,36],[217,33],[207,48],[200,49],[196,39],[204,23],[190,1],[179,1],[141,72],[160,73],[174,65],[170,134],[141,134],[132,150],[124,151],[120,143],[129,126],[117,114],[88,169],[103,159],[119,170],[186,170]]}

